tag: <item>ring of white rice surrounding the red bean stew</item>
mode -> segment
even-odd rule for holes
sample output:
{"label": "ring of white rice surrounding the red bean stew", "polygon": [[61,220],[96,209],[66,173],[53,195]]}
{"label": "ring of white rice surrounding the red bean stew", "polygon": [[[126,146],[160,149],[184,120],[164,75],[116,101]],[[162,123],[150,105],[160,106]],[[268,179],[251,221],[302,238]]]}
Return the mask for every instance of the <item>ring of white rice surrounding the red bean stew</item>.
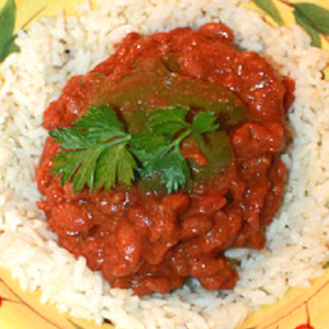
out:
{"label": "ring of white rice surrounding the red bean stew", "polygon": [[[111,319],[118,329],[232,329],[252,309],[275,303],[291,286],[309,286],[310,279],[324,273],[329,259],[329,83],[320,70],[328,55],[310,47],[299,27],[272,29],[257,13],[237,8],[238,2],[112,0],[100,3],[98,11],[81,7],[79,19],[41,19],[29,33],[19,32],[21,53],[0,68],[0,264],[23,288],[39,288],[42,302],[99,324]],[[294,143],[283,155],[290,172],[284,202],[268,228],[264,250],[227,251],[241,261],[232,292],[208,292],[191,282],[170,295],[139,298],[110,288],[47,230],[35,206],[34,168],[47,135],[42,115],[68,77],[105,59],[126,33],[197,27],[209,21],[230,26],[237,44],[262,54],[296,81],[290,112]]]}

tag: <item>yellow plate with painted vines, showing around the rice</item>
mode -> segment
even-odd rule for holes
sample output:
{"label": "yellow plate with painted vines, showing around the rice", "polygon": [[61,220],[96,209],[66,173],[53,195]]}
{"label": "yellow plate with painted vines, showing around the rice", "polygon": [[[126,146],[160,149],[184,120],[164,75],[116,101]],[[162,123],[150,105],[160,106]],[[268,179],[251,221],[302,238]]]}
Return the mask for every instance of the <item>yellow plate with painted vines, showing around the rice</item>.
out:
{"label": "yellow plate with painted vines, showing around the rice", "polygon": [[[0,0],[0,10],[5,0]],[[15,30],[27,27],[41,15],[57,15],[60,10],[66,14],[76,15],[75,5],[79,2],[79,0],[16,0]],[[290,25],[295,23],[291,5],[294,2],[302,2],[302,0],[254,0],[254,3],[243,5],[258,11],[270,24],[277,25],[277,15],[269,8],[269,3],[274,3],[282,18],[281,23]],[[328,0],[307,2],[329,10]],[[271,12],[274,19],[266,12]],[[329,36],[320,37],[321,47],[329,52]],[[329,68],[325,70],[325,76],[329,80]],[[59,314],[55,306],[41,304],[39,296],[39,292],[23,292],[19,282],[13,280],[7,270],[0,268],[0,329],[112,328],[110,325],[100,327],[94,322],[72,318],[68,314]],[[315,280],[310,288],[291,290],[283,300],[261,308],[238,329],[329,329],[328,310],[329,270]]]}

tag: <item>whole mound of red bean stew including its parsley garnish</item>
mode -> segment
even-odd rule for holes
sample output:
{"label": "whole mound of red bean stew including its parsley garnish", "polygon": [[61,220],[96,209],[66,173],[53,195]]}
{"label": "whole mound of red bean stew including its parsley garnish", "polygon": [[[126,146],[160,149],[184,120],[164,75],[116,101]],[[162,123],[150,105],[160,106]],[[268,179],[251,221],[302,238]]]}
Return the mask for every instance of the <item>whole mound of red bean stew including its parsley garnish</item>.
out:
{"label": "whole mound of red bean stew including its parsley garnish", "polygon": [[293,90],[223,24],[131,33],[45,111],[38,207],[112,287],[232,288],[225,250],[261,249],[280,207]]}

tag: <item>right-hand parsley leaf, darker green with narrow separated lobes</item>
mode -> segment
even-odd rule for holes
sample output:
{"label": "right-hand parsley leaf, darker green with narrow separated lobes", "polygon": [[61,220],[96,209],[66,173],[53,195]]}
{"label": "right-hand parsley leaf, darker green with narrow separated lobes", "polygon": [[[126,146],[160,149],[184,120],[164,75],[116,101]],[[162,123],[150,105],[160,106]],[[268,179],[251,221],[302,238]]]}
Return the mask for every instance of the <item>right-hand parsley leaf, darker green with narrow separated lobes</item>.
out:
{"label": "right-hand parsley leaf, darker green with narrow separated lobes", "polygon": [[180,144],[193,134],[203,147],[202,134],[218,128],[213,112],[197,113],[192,124],[186,122],[188,112],[188,107],[180,105],[151,111],[147,123],[151,132],[133,134],[131,140],[132,151],[141,163],[141,178],[159,174],[169,193],[177,192],[191,180]]}

